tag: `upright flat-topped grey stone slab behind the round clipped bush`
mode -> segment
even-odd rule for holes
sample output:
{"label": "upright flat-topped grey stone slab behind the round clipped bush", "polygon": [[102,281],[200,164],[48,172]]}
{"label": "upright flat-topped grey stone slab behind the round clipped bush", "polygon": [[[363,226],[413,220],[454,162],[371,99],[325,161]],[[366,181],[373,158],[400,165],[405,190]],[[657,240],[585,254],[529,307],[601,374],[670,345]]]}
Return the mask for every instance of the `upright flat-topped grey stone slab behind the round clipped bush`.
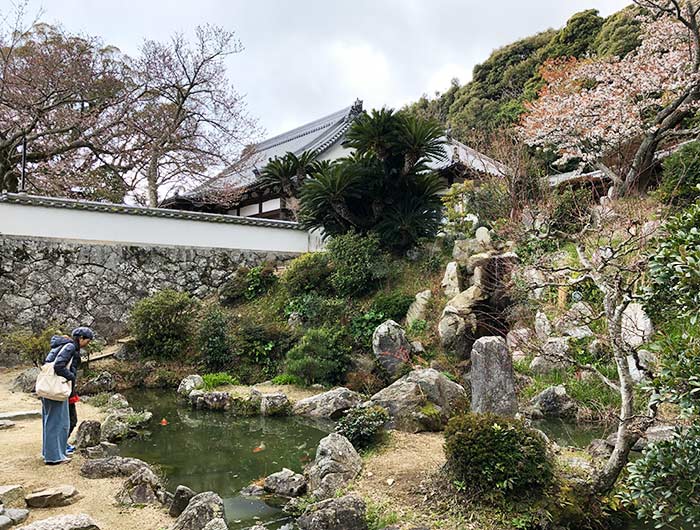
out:
{"label": "upright flat-topped grey stone slab behind the round clipped bush", "polygon": [[471,361],[472,412],[514,416],[518,399],[513,360],[505,339],[481,337],[474,343]]}

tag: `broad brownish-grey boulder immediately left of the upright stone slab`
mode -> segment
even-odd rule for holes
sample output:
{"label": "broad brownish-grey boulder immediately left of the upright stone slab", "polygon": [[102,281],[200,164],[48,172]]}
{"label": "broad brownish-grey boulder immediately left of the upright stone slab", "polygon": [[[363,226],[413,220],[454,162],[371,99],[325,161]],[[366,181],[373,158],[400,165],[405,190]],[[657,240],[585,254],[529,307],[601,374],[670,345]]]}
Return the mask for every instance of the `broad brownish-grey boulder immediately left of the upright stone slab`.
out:
{"label": "broad brownish-grey boulder immediately left of the upright stone slab", "polygon": [[389,412],[389,428],[407,432],[440,430],[467,406],[467,392],[432,368],[414,370],[371,397]]}

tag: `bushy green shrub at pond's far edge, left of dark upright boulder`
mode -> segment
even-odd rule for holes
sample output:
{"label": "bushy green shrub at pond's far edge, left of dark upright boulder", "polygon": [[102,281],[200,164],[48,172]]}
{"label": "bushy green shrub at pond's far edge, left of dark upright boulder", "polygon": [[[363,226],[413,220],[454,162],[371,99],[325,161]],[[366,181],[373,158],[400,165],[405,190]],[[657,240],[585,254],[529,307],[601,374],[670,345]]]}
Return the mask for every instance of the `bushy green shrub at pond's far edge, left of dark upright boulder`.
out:
{"label": "bushy green shrub at pond's far edge, left of dark upright boulder", "polygon": [[349,354],[342,329],[310,329],[287,353],[286,372],[307,385],[335,384],[347,371]]}

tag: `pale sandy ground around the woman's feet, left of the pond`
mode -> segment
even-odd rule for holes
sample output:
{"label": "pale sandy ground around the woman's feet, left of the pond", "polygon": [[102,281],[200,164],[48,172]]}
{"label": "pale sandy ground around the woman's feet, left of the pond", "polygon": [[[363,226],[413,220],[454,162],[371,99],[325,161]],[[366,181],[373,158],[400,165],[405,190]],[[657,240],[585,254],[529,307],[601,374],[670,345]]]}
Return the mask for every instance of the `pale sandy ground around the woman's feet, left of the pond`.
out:
{"label": "pale sandy ground around the woman's feet, left of the pond", "polygon": [[[21,370],[0,369],[0,412],[41,410],[38,399],[10,392],[12,380]],[[78,403],[78,421],[102,419],[101,412],[86,403]],[[11,429],[0,431],[0,484],[21,484],[27,492],[71,484],[80,493],[78,502],[61,508],[32,509],[29,522],[54,515],[86,513],[102,530],[160,530],[173,523],[161,508],[125,508],[114,503],[124,479],[90,480],[79,475],[83,458],[75,456],[70,464],[46,466],[41,458],[41,418],[17,420]]]}

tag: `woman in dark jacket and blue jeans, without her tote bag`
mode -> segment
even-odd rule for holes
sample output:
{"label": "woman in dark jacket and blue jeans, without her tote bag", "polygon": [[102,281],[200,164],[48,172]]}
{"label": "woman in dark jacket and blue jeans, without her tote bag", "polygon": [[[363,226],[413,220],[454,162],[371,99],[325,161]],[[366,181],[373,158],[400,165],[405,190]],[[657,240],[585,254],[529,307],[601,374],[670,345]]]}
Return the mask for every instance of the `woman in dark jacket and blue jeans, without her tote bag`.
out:
{"label": "woman in dark jacket and blue jeans, without her tote bag", "polygon": [[[80,365],[80,348],[87,346],[93,338],[95,333],[86,327],[75,328],[71,337],[54,335],[51,337],[51,351],[44,362],[53,362],[56,375],[70,381],[75,388]],[[70,429],[68,400],[41,398],[41,417],[44,427],[41,453],[44,462],[47,465],[70,462],[66,455]]]}

